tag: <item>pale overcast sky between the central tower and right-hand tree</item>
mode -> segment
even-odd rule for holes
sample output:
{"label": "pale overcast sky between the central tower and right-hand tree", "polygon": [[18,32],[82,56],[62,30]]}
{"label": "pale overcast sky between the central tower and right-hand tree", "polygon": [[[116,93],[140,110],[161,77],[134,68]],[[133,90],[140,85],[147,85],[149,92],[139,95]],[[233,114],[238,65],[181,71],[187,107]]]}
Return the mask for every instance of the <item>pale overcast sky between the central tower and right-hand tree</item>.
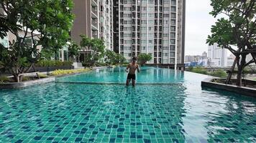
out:
{"label": "pale overcast sky between the central tower and right-hand tree", "polygon": [[209,14],[210,0],[186,0],[185,55],[201,55],[207,52],[206,39],[216,19]]}

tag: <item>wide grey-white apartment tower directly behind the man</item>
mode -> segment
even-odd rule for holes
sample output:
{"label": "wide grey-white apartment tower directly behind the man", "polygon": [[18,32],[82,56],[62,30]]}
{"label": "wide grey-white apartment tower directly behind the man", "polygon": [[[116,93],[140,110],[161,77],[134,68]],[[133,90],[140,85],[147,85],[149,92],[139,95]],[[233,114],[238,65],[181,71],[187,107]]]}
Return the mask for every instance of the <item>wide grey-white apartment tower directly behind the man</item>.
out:
{"label": "wide grey-white apartment tower directly behind the man", "polygon": [[114,51],[127,61],[151,54],[148,64],[184,64],[185,0],[114,0]]}

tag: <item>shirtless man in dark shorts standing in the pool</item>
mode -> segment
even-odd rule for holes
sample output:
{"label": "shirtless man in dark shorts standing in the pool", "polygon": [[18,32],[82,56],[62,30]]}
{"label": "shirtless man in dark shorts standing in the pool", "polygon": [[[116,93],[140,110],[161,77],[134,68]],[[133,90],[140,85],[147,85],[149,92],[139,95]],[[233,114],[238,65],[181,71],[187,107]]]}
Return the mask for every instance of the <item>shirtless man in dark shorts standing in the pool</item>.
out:
{"label": "shirtless man in dark shorts standing in the pool", "polygon": [[127,75],[127,86],[129,85],[129,82],[132,79],[132,86],[135,86],[135,79],[136,79],[136,70],[138,69],[138,72],[140,72],[140,67],[139,65],[136,63],[137,58],[133,57],[132,58],[132,63],[129,63],[129,65],[127,66],[126,71],[128,72],[129,69],[129,73]]}

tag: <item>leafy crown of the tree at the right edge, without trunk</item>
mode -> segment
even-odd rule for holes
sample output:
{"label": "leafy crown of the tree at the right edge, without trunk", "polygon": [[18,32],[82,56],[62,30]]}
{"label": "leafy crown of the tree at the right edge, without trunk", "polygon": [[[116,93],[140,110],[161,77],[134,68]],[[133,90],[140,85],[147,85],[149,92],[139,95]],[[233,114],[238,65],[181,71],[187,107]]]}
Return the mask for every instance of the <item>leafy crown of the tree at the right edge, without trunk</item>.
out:
{"label": "leafy crown of the tree at the right edge, without trunk", "polygon": [[226,18],[218,19],[211,27],[208,44],[218,43],[224,48],[255,44],[255,0],[211,0],[211,6],[214,8],[210,12],[212,16],[225,14]]}

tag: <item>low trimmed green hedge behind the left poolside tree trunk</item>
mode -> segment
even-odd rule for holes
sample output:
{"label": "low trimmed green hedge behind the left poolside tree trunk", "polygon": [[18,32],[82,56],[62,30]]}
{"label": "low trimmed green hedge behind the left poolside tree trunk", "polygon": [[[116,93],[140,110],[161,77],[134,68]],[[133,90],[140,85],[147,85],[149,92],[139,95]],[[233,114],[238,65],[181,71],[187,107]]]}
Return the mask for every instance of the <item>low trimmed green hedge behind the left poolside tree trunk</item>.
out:
{"label": "low trimmed green hedge behind the left poolside tree trunk", "polygon": [[71,66],[72,61],[52,61],[52,60],[40,60],[35,64],[37,67],[47,67],[47,66]]}

